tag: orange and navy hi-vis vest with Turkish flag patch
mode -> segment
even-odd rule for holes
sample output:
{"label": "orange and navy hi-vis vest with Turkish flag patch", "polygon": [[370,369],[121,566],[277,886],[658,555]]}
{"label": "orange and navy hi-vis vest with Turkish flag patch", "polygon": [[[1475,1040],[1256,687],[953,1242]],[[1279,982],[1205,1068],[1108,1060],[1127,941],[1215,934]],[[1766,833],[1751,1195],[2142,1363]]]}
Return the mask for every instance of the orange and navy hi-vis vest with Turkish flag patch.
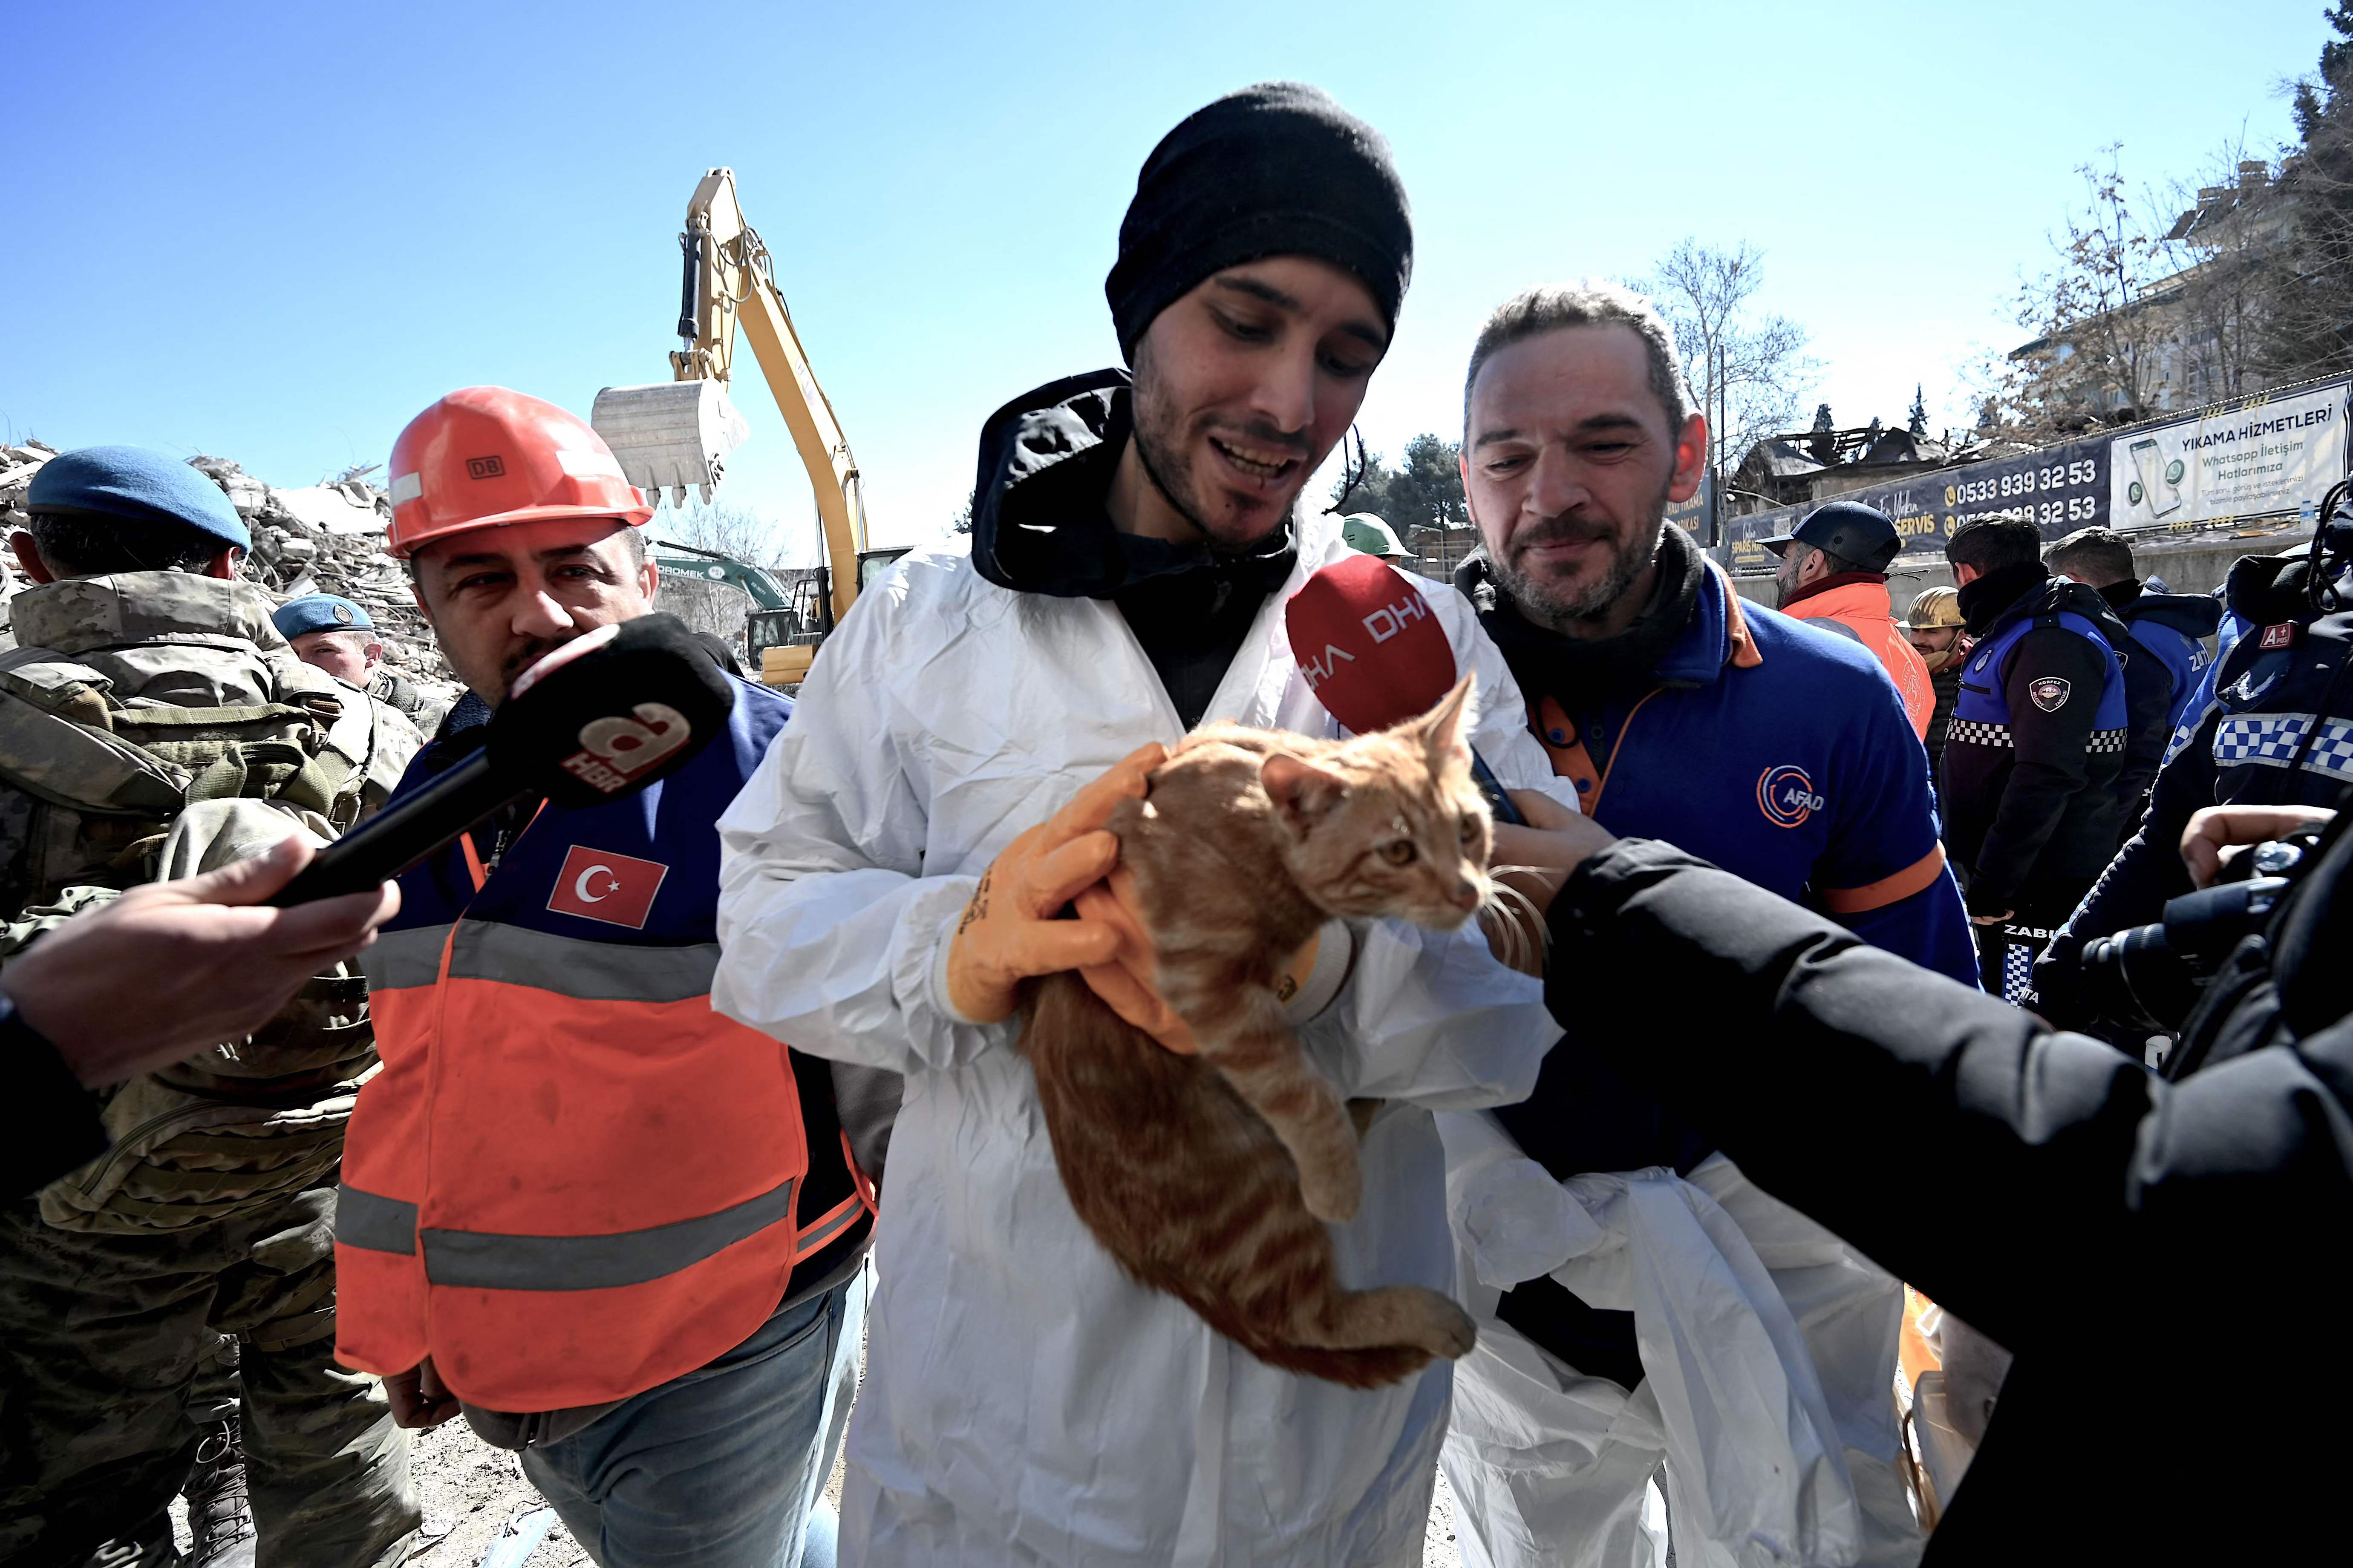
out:
{"label": "orange and navy hi-vis vest with Turkish flag patch", "polygon": [[711,1011],[713,823],[784,712],[744,693],[668,780],[400,879],[365,954],[384,1070],[344,1154],[341,1361],[431,1354],[494,1410],[628,1399],[751,1338],[868,1218],[864,1182],[809,1199],[786,1046]]}

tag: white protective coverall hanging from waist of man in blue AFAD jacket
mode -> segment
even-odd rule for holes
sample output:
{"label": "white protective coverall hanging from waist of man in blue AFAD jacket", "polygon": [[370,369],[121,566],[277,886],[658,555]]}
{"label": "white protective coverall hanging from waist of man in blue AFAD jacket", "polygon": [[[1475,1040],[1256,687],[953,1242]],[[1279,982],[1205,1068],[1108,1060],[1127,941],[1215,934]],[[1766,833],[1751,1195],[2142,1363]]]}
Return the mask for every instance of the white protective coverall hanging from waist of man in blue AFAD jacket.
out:
{"label": "white protective coverall hanging from waist of man in blue AFAD jacket", "polygon": [[[1689,1568],[1918,1561],[1894,1474],[1901,1284],[1722,1154],[1689,1178],[1562,1182],[1492,1117],[1438,1124],[1480,1331],[1445,1443],[1466,1568],[1661,1568],[1642,1519],[1661,1469]],[[1497,1321],[1499,1295],[1541,1274],[1635,1314],[1640,1387],[1586,1378]]]}

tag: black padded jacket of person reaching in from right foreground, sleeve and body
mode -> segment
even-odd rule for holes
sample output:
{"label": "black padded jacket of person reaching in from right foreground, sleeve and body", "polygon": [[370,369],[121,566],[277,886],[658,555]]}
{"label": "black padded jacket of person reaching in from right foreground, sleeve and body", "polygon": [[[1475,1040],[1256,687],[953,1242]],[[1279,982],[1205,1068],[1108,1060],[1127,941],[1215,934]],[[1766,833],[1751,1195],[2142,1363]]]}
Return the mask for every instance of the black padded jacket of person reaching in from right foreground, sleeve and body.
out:
{"label": "black padded jacket of person reaching in from right foreground, sleeve and body", "polygon": [[1551,929],[1555,1056],[2017,1352],[1932,1566],[2344,1556],[2353,1023],[2167,1084],[1635,839]]}

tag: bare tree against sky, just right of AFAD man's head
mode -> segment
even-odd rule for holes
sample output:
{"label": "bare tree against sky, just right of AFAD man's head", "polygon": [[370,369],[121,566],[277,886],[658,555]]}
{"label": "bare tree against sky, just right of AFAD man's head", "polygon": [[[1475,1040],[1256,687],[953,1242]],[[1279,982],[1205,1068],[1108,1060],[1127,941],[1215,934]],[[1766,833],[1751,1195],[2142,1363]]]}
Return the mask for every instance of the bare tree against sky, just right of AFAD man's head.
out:
{"label": "bare tree against sky, just right of AFAD man's head", "polygon": [[[1718,470],[1734,468],[1760,440],[1795,423],[1821,360],[1805,353],[1805,327],[1755,308],[1765,252],[1746,240],[1732,249],[1682,240],[1631,287],[1675,329],[1682,378],[1715,435]],[[1718,402],[1727,404],[1722,421]]]}

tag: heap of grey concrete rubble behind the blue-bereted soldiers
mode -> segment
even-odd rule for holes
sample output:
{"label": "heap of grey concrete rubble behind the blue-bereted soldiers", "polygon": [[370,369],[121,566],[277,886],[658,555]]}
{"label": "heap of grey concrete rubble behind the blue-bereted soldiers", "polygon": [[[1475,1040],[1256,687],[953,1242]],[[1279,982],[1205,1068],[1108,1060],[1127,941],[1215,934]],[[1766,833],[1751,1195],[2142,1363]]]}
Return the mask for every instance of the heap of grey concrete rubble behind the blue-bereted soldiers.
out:
{"label": "heap of grey concrete rubble behind the blue-bereted soldiers", "polygon": [[[56,456],[54,447],[26,442],[0,447],[0,534],[26,524],[24,491],[40,465]],[[273,489],[228,458],[188,458],[207,480],[221,487],[228,503],[254,534],[245,557],[245,576],[268,588],[278,599],[306,592],[339,592],[367,607],[384,639],[384,663],[424,686],[435,701],[454,703],[461,686],[433,644],[433,628],[409,597],[409,578],[400,562],[384,552],[384,529],[393,522],[391,496],[369,482],[374,468],[353,468],[322,484]],[[0,628],[7,621],[5,599],[24,588],[14,559],[0,562]],[[0,646],[14,646],[0,630]]]}

